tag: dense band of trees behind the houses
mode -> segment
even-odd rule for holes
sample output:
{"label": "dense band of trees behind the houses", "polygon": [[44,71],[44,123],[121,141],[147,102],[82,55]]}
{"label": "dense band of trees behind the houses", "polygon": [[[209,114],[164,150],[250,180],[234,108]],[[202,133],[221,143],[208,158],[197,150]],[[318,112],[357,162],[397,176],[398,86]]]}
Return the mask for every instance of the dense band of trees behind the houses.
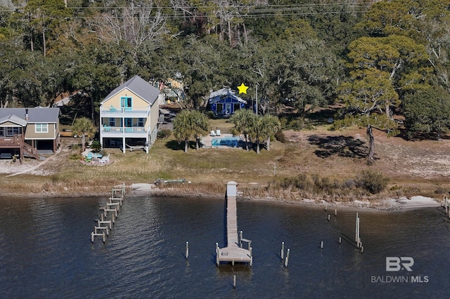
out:
{"label": "dense band of trees behind the houses", "polygon": [[449,36],[450,0],[13,0],[0,10],[0,105],[78,92],[95,119],[132,75],[177,76],[192,109],[245,82],[261,114],[289,105],[301,124],[339,101],[336,128],[394,134],[397,112],[411,137],[429,137],[450,126],[433,116],[449,105]]}

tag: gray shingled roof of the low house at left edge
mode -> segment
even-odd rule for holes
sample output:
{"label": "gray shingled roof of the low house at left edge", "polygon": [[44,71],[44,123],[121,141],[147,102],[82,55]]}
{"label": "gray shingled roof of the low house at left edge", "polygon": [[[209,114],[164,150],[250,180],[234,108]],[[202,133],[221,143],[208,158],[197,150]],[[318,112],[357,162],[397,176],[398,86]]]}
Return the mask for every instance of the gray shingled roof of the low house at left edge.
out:
{"label": "gray shingled roof of the low house at left edge", "polygon": [[[25,109],[28,109],[28,123],[32,124],[53,124],[58,122],[59,108],[0,108],[0,123],[13,121],[16,124],[26,125]],[[20,119],[22,123],[20,123]],[[25,122],[24,122],[25,121]]]}

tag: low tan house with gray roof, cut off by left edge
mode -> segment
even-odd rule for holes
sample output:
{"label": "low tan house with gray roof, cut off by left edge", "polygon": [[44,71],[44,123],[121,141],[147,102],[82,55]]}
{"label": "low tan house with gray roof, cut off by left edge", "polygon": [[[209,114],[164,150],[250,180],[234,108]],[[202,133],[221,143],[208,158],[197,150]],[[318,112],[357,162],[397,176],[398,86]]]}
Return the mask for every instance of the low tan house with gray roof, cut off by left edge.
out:
{"label": "low tan house with gray roof, cut off by left edge", "polygon": [[39,158],[60,145],[59,108],[0,108],[0,157]]}

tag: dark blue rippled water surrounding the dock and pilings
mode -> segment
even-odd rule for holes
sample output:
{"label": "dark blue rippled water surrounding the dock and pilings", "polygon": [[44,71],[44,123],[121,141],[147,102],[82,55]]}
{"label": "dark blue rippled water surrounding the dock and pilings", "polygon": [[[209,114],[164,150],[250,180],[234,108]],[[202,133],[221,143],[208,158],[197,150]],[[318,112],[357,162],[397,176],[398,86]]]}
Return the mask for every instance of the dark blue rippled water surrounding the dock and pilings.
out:
{"label": "dark blue rippled water surrounding the dock and pilings", "polygon": [[[0,199],[0,297],[449,296],[450,223],[437,208],[359,211],[361,253],[345,241],[354,237],[354,210],[338,209],[328,222],[319,207],[238,201],[239,230],[252,240],[250,268],[215,265],[215,243],[226,245],[224,200],[129,197],[106,243],[91,244],[105,202]],[[290,248],[287,268],[282,241]],[[412,257],[413,271],[386,272],[386,257]],[[403,281],[387,282],[392,277]]]}

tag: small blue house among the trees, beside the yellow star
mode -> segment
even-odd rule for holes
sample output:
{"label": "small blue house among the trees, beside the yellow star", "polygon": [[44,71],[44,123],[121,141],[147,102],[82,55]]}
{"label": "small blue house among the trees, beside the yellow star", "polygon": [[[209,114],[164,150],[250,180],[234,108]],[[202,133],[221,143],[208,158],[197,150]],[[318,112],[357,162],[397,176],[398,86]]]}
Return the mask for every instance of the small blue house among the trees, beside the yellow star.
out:
{"label": "small blue house among the trees, beside the yellow star", "polygon": [[211,93],[208,104],[214,115],[229,117],[238,109],[243,109],[247,102],[233,93],[231,88],[221,88]]}

